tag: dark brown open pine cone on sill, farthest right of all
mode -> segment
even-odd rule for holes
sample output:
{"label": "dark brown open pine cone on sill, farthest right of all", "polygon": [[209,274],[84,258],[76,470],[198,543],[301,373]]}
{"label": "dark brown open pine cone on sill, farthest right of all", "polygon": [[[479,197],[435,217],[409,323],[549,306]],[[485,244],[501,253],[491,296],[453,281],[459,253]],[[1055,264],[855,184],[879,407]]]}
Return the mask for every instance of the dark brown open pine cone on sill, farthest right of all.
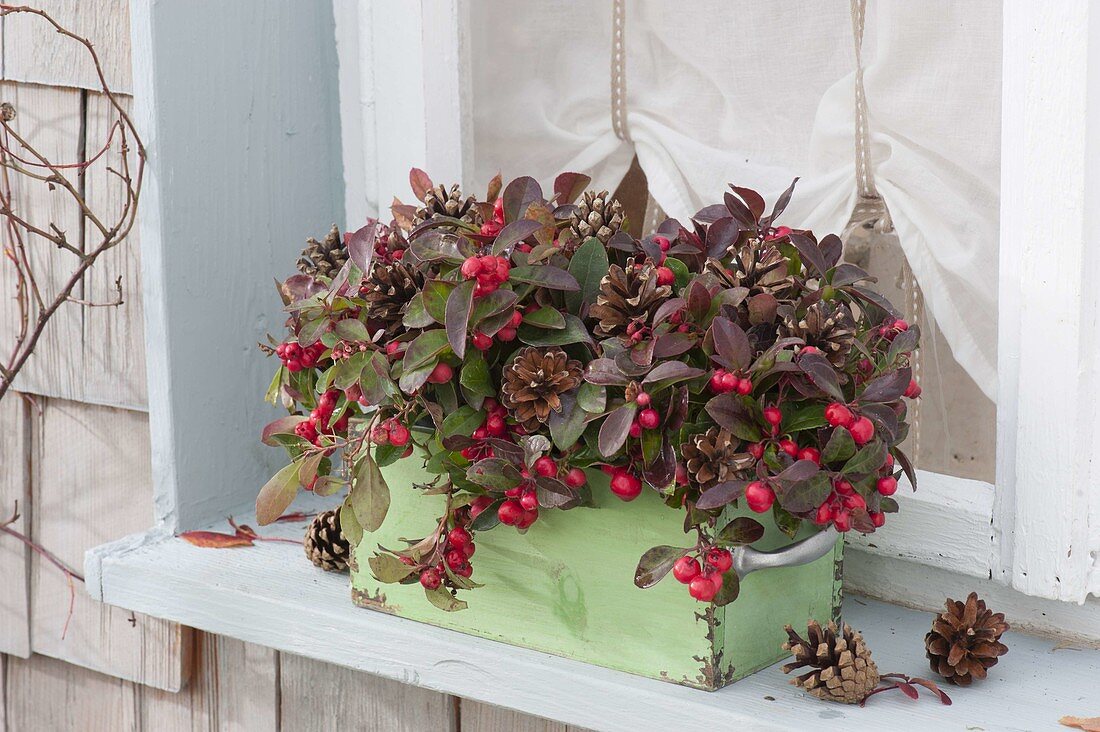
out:
{"label": "dark brown open pine cone on sill, farthest right of all", "polygon": [[987,609],[977,592],[971,592],[965,603],[948,600],[944,608],[946,611],[939,613],[924,636],[928,664],[952,684],[970,686],[974,679],[986,678],[989,667],[1009,652],[1000,642],[1009,624],[1004,613]]}

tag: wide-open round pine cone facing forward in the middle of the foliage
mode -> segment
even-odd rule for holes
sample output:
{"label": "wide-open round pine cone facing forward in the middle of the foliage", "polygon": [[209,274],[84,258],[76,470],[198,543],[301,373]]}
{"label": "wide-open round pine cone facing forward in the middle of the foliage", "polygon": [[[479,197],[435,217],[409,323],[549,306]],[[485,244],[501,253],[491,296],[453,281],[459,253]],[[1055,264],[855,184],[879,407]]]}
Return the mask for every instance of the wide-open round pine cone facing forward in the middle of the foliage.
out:
{"label": "wide-open round pine cone facing forward in the middle of the foliage", "polygon": [[561,412],[561,395],[581,384],[581,362],[560,348],[525,348],[504,370],[501,403],[528,433]]}

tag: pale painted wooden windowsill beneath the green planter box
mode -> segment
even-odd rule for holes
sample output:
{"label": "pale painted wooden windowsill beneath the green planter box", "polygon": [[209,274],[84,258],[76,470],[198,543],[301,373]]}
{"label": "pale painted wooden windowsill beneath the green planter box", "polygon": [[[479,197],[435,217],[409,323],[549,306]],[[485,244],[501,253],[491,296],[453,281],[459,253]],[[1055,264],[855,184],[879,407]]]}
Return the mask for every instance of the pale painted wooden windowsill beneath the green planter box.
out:
{"label": "pale painted wooden windowsill beneath the green planter box", "polygon": [[[298,523],[261,533],[302,531]],[[345,575],[314,568],[290,544],[204,549],[151,532],[88,553],[86,572],[88,591],[111,604],[594,730],[1043,730],[1059,729],[1064,714],[1100,714],[1100,651],[1021,633],[1007,636],[1010,652],[985,684],[944,687],[952,707],[892,691],[860,709],[799,692],[778,666],[705,692],[360,609]],[[931,674],[931,613],[848,598],[845,619],[883,673]]]}

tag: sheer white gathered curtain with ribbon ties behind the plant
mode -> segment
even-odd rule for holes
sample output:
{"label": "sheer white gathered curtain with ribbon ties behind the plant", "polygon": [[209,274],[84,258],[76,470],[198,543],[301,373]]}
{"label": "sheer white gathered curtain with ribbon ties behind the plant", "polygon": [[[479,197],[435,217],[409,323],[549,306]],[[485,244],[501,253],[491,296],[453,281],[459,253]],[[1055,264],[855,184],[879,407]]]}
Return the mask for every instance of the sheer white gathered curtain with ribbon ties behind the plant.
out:
{"label": "sheer white gathered curtain with ribbon ties behind the plant", "polygon": [[[546,184],[573,170],[613,190],[637,155],[650,195],[681,221],[729,183],[774,200],[799,176],[783,223],[822,234],[848,222],[847,1],[469,7],[475,179]],[[862,58],[878,192],[928,314],[996,398],[1001,4],[871,0]]]}

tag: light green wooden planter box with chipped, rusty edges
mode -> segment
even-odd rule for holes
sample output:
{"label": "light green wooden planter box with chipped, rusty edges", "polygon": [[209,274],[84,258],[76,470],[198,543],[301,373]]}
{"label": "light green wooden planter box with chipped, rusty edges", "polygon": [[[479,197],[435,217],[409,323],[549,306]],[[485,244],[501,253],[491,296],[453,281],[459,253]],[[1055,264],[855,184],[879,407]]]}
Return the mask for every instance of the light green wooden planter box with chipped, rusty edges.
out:
{"label": "light green wooden planter box with chipped, rusty edges", "polygon": [[[430,480],[417,461],[400,460],[382,472],[391,488],[389,515],[356,547],[352,569],[352,599],[365,608],[700,689],[721,688],[779,660],[784,624],[827,622],[839,609],[842,543],[810,565],[749,575],[726,608],[692,600],[671,577],[639,590],[634,569],[646,549],[690,544],[682,517],[651,491],[620,502],[606,476],[591,471],[598,507],[543,511],[525,535],[507,526],[479,534],[473,579],[485,587],[460,592],[470,607],[446,613],[419,584],[382,584],[371,576],[366,560],[378,545],[426,535],[443,504],[442,496],[410,488]],[[789,543],[772,527],[755,546]]]}

